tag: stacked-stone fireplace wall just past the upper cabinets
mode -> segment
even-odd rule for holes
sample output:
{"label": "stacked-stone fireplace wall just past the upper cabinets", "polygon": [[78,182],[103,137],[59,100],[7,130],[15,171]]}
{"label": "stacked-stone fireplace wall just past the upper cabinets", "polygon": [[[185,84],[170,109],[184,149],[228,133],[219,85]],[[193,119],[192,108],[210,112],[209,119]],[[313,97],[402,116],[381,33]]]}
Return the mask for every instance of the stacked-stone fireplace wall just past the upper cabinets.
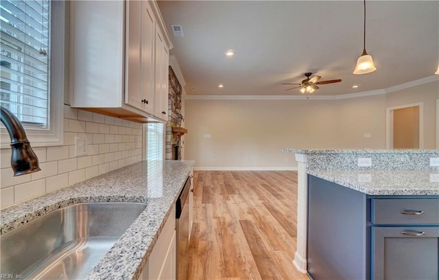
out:
{"label": "stacked-stone fireplace wall just past the upper cabinets", "polygon": [[174,160],[174,147],[178,146],[178,160],[181,160],[181,138],[174,138],[172,135],[172,127],[181,127],[182,125],[182,88],[172,67],[169,66],[169,99],[168,99],[168,121],[166,124],[166,145],[165,159]]}

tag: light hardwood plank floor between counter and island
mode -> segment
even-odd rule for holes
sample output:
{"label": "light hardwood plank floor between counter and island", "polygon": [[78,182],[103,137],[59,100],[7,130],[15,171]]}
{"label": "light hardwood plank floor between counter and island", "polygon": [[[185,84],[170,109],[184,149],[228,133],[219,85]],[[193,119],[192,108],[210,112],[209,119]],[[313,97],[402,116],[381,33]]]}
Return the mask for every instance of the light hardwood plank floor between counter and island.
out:
{"label": "light hardwood plank floor between counter and island", "polygon": [[309,279],[296,251],[297,173],[195,171],[187,279]]}

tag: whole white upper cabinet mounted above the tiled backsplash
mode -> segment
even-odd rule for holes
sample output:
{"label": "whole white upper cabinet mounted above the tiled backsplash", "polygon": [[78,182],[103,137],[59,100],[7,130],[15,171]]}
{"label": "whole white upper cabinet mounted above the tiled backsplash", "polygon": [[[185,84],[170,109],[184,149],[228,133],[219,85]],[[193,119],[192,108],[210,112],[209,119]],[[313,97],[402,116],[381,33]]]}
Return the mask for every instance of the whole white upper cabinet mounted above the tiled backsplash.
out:
{"label": "whole white upper cabinet mounted above the tiled backsplash", "polygon": [[156,99],[167,90],[163,69],[167,71],[171,41],[156,2],[70,3],[71,107],[143,122],[166,120],[165,101]]}

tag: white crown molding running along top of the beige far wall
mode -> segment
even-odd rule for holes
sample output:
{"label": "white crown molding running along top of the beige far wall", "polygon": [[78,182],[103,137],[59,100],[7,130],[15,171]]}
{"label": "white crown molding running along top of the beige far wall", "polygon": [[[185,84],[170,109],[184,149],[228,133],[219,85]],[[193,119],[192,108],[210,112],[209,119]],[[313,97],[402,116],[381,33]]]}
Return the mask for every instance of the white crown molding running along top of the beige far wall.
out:
{"label": "white crown molding running along top of the beige far wall", "polygon": [[423,84],[439,81],[439,75],[431,75],[425,78],[407,81],[407,83],[383,88],[381,90],[369,90],[365,92],[345,93],[336,95],[207,95],[207,94],[187,94],[186,99],[191,100],[338,100],[357,97],[369,97],[377,94],[385,94],[405,88],[413,88]]}

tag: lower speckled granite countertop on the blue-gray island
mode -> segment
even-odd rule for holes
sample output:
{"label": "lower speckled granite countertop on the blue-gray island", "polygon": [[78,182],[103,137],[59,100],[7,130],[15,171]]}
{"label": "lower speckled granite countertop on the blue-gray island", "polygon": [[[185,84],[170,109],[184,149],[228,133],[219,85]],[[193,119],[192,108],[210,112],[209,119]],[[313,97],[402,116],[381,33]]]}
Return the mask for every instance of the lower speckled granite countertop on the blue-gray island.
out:
{"label": "lower speckled granite countertop on the blue-gray island", "polygon": [[307,173],[370,195],[439,195],[439,170],[322,170]]}

